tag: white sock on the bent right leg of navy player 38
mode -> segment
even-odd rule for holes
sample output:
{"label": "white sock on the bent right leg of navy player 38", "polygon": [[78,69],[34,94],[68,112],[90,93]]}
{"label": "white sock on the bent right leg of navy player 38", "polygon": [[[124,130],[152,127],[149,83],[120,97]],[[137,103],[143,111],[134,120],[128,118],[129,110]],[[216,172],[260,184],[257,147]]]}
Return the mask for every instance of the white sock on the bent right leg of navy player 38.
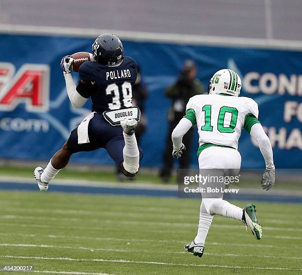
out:
{"label": "white sock on the bent right leg of navy player 38", "polygon": [[123,133],[123,135],[125,140],[125,146],[123,148],[123,166],[127,172],[135,174],[139,169],[140,161],[140,151],[137,146],[136,137],[135,134],[129,136]]}

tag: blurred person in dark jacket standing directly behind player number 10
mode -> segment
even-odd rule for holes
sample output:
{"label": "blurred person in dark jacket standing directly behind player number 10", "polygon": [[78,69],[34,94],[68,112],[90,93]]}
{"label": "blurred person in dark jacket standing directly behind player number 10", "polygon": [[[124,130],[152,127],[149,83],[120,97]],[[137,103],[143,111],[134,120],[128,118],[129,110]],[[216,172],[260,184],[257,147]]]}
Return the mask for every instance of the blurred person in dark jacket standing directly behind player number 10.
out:
{"label": "blurred person in dark jacket standing directly behind player number 10", "polygon": [[[184,63],[181,74],[177,81],[165,90],[165,95],[172,100],[172,105],[168,112],[169,128],[166,139],[166,148],[163,154],[163,166],[160,170],[159,176],[163,182],[168,182],[171,177],[173,169],[173,157],[171,152],[173,151],[173,144],[171,140],[171,134],[173,129],[183,118],[186,111],[186,105],[189,98],[196,95],[205,93],[204,86],[196,79],[197,68],[192,60],[187,60]],[[189,168],[190,162],[190,149],[193,137],[193,127],[189,130],[184,137],[184,143],[187,146],[182,158],[180,159],[180,169]]]}

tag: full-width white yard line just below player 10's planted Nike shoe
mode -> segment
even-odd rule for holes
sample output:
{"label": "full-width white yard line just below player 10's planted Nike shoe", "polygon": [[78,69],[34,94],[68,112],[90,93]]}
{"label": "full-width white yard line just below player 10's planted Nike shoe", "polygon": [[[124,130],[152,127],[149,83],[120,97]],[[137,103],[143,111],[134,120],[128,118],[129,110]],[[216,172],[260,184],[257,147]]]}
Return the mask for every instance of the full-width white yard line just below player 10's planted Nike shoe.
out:
{"label": "full-width white yard line just below player 10's planted Nike shoe", "polygon": [[105,263],[130,263],[130,264],[148,264],[148,265],[163,265],[163,266],[183,266],[183,267],[211,267],[211,268],[232,268],[232,269],[256,269],[256,270],[293,270],[302,271],[302,269],[294,268],[278,268],[278,267],[246,267],[246,266],[226,266],[226,265],[197,265],[197,264],[177,264],[152,261],[129,261],[124,259],[109,260],[109,259],[85,259],[85,258],[65,258],[65,257],[31,257],[31,256],[16,256],[16,255],[0,255],[0,258],[12,259],[33,259],[33,260],[62,260],[76,262],[105,262]]}

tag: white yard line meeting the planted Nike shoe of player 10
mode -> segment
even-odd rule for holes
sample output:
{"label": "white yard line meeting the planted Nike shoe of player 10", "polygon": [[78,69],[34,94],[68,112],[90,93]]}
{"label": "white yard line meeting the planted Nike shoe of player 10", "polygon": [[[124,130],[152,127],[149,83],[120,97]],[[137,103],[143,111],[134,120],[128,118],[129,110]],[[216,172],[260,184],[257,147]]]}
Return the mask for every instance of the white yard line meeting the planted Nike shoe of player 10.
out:
{"label": "white yard line meeting the planted Nike shoe of player 10", "polygon": [[[168,253],[168,254],[187,254],[185,251],[158,251],[158,250],[123,250],[123,249],[107,249],[107,248],[91,248],[91,247],[74,247],[61,245],[46,245],[46,244],[24,244],[24,243],[0,243],[0,246],[14,246],[14,247],[39,247],[39,248],[56,248],[56,249],[80,249],[89,251],[113,251],[113,252],[128,252],[128,253]],[[286,257],[286,256],[267,256],[267,255],[251,255],[251,254],[222,254],[222,253],[205,253],[212,256],[231,256],[231,257],[260,257],[268,259],[293,259],[302,260],[302,257]]]}

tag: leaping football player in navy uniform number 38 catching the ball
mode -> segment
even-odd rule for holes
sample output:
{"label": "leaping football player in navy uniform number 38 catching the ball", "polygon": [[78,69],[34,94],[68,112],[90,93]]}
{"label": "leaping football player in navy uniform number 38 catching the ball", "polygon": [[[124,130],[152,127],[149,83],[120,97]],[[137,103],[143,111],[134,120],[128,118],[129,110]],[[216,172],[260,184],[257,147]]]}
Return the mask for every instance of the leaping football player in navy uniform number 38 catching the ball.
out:
{"label": "leaping football player in navy uniform number 38 catching the ball", "polygon": [[123,56],[123,45],[112,34],[99,36],[92,45],[94,61],[79,67],[79,83],[72,75],[73,58],[63,57],[61,66],[72,105],[82,107],[89,97],[92,112],[71,132],[63,147],[47,167],[37,167],[34,176],[41,191],[64,168],[73,153],[105,148],[127,177],[139,169],[140,152],[134,134],[139,109],[132,107],[132,87],[137,77],[137,63]]}

